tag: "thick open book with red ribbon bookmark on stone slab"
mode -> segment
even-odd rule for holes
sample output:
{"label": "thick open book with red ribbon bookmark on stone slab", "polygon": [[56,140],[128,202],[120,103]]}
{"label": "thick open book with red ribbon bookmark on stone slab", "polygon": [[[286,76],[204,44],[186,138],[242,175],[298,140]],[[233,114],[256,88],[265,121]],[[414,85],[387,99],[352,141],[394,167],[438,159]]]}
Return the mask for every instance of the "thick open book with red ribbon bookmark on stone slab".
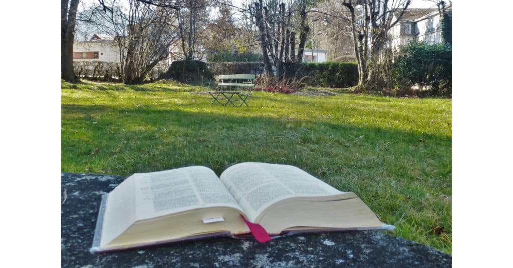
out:
{"label": "thick open book with red ribbon bookmark on stone slab", "polygon": [[241,163],[221,177],[191,166],[134,174],[104,195],[90,251],[245,237],[254,224],[271,237],[387,229],[356,195],[294,166]]}

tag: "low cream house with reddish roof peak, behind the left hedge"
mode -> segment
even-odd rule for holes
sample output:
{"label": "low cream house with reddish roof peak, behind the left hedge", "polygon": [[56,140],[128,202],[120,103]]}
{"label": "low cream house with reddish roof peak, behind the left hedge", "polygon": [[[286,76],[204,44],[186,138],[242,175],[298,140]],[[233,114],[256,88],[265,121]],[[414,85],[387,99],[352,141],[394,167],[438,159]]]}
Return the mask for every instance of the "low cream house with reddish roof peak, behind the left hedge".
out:
{"label": "low cream house with reddish roof peak, behind the left hedge", "polygon": [[73,61],[120,62],[120,50],[113,37],[95,33],[89,41],[73,43]]}

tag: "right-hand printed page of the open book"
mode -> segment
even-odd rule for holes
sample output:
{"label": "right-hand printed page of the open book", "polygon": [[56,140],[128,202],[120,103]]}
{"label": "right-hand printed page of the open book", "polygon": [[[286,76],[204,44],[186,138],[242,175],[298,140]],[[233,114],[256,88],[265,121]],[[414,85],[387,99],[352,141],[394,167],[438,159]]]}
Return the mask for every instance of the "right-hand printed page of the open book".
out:
{"label": "right-hand printed page of the open book", "polygon": [[344,192],[290,165],[241,163],[224,171],[221,181],[250,221],[263,209],[291,197],[323,197]]}

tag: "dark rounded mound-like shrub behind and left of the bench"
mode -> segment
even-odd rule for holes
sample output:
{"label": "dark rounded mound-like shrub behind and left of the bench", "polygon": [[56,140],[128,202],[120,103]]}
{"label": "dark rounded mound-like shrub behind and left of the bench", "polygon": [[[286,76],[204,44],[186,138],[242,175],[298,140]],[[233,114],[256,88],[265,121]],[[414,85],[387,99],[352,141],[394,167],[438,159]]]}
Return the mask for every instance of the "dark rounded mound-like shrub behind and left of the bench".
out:
{"label": "dark rounded mound-like shrub behind and left of the bench", "polygon": [[181,82],[215,80],[214,74],[208,69],[207,64],[201,61],[174,61],[160,78]]}

